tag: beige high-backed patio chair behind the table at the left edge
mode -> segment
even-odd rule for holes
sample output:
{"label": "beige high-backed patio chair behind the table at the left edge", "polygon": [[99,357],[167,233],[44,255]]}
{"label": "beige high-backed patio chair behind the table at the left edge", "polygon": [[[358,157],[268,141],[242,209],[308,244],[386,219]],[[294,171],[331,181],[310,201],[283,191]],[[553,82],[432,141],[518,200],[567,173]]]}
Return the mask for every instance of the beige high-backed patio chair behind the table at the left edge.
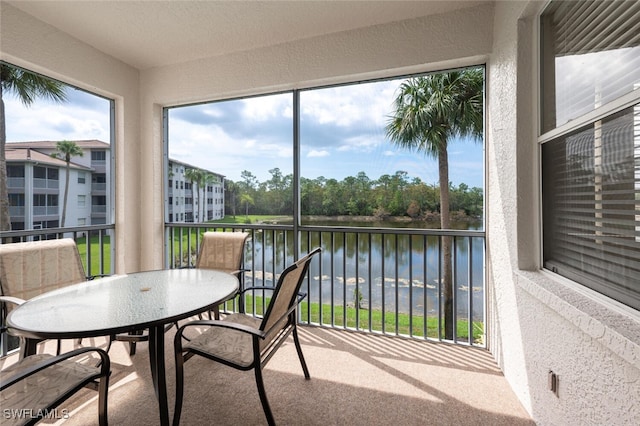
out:
{"label": "beige high-backed patio chair behind the table at the left edge", "polygon": [[[92,278],[85,275],[78,247],[71,238],[1,244],[1,324],[6,324],[13,304]],[[56,353],[60,354],[59,340]]]}

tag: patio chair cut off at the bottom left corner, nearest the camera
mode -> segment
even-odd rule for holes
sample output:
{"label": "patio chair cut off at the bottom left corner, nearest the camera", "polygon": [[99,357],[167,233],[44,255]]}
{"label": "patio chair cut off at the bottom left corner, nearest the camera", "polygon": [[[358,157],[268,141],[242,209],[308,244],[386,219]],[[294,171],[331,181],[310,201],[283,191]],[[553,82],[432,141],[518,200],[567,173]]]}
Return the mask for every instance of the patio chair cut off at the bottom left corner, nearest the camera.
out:
{"label": "patio chair cut off at the bottom left corner, nearest the camera", "polygon": [[[89,353],[100,357],[98,367],[82,363]],[[62,355],[28,356],[0,371],[3,425],[32,425],[61,412],[54,409],[83,387],[98,391],[98,421],[107,425],[110,361],[99,348],[84,347]]]}

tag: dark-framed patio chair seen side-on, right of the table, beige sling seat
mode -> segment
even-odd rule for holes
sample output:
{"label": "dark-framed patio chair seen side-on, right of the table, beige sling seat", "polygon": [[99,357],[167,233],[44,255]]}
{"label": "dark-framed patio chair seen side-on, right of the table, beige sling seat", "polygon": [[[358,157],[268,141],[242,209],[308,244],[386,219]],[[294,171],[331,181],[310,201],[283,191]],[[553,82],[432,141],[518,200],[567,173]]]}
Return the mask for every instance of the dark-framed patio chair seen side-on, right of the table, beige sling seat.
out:
{"label": "dark-framed patio chair seen side-on, right of the table, beige sling seat", "polygon": [[[309,269],[313,256],[320,252],[316,248],[288,268],[286,268],[276,287],[247,287],[242,290],[241,298],[248,291],[272,291],[267,310],[262,318],[246,313],[235,313],[223,320],[196,320],[184,324],[178,329],[174,339],[176,364],[176,406],[173,424],[180,423],[184,393],[184,362],[194,355],[200,355],[212,361],[228,365],[238,370],[254,370],[260,401],[267,421],[275,424],[262,379],[262,369],[269,362],[289,334],[293,334],[298,358],[305,379],[309,380],[309,370],[302,355],[297,331],[297,308],[306,294],[299,293],[300,286]],[[191,327],[208,327],[202,334],[183,344],[182,334]]]}

